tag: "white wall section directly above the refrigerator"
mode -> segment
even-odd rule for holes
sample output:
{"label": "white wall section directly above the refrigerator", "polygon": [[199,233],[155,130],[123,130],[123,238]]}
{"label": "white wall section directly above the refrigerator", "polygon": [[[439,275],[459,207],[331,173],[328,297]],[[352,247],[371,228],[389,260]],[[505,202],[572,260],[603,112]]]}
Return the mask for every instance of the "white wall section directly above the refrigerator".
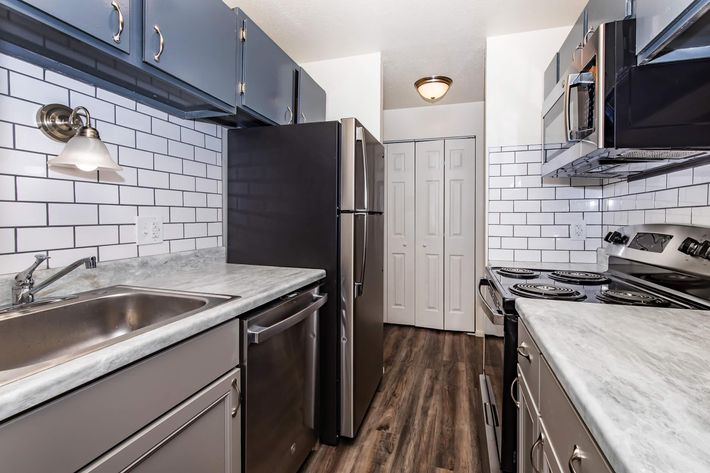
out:
{"label": "white wall section directly above the refrigerator", "polygon": [[326,120],[355,117],[382,138],[382,57],[363,54],[301,64],[325,89]]}

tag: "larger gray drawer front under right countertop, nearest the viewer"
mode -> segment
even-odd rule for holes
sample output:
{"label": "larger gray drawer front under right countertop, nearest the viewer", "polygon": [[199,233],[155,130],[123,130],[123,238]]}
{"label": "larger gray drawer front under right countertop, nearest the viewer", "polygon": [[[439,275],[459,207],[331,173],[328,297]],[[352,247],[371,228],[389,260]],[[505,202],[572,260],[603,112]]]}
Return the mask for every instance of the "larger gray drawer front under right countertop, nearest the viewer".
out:
{"label": "larger gray drawer front under right countertop, nearest the viewer", "polygon": [[567,466],[577,451],[581,458],[573,463],[578,472],[612,473],[546,361],[540,366],[540,415],[560,465]]}

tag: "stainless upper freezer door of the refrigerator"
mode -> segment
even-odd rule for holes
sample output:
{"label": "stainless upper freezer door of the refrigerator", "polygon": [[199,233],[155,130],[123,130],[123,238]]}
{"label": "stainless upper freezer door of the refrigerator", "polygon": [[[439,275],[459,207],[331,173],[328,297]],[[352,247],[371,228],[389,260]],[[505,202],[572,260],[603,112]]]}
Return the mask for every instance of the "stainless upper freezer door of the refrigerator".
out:
{"label": "stainless upper freezer door of the refrigerator", "polygon": [[385,148],[354,118],[341,126],[343,211],[382,212],[385,207]]}

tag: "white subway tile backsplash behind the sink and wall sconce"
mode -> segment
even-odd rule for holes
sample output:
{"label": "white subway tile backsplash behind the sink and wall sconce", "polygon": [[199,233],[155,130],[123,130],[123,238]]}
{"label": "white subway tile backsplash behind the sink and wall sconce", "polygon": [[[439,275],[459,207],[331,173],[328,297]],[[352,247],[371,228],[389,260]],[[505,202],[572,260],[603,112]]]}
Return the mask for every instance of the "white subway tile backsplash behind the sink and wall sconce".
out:
{"label": "white subway tile backsplash behind the sink and wall sconce", "polygon": [[[37,110],[49,102],[87,107],[123,170],[48,168],[47,159],[64,147],[37,129]],[[58,267],[84,255],[106,261],[221,245],[222,135],[217,125],[169,116],[0,54],[3,272],[24,269],[37,251],[48,251],[50,266]],[[163,220],[169,241],[136,246],[138,214]]]}

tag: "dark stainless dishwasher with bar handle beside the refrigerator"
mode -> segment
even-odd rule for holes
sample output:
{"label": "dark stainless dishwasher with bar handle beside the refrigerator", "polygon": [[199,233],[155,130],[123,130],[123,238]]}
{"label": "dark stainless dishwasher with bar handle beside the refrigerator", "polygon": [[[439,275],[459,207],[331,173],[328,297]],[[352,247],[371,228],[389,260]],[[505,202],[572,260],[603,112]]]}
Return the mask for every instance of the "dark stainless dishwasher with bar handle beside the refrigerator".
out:
{"label": "dark stainless dishwasher with bar handle beside the refrigerator", "polygon": [[318,309],[303,289],[242,318],[247,473],[295,473],[316,446]]}

